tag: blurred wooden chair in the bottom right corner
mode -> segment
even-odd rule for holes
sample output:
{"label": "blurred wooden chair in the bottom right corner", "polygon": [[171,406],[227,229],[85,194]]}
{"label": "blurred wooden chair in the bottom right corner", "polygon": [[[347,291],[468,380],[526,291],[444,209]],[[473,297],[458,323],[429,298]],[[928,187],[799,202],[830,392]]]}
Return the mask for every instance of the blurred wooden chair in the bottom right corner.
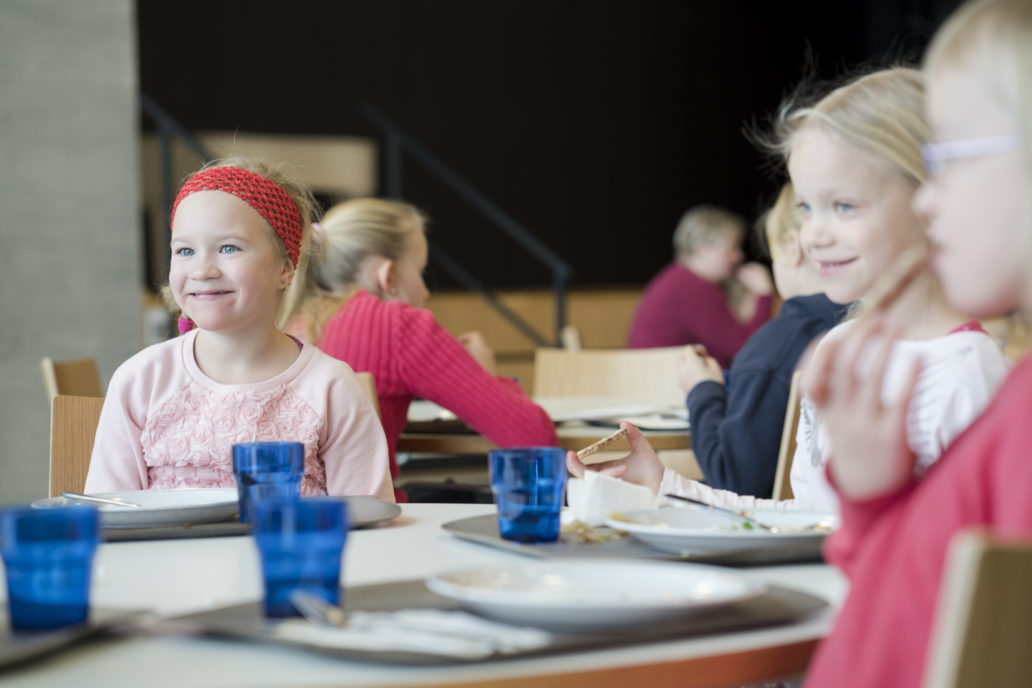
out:
{"label": "blurred wooden chair in the bottom right corner", "polygon": [[1032,683],[1032,540],[959,533],[949,546],[925,688]]}

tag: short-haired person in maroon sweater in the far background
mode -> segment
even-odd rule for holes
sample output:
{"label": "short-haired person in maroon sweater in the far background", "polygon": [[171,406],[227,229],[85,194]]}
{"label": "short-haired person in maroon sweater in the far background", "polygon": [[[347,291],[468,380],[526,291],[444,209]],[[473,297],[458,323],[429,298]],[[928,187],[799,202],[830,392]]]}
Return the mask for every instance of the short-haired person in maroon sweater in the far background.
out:
{"label": "short-haired person in maroon sweater in the far background", "polygon": [[[627,338],[631,349],[703,345],[722,367],[771,316],[773,285],[767,268],[742,264],[745,221],[712,205],[698,205],[674,232],[674,261],[646,285]],[[725,288],[737,280],[739,302]]]}

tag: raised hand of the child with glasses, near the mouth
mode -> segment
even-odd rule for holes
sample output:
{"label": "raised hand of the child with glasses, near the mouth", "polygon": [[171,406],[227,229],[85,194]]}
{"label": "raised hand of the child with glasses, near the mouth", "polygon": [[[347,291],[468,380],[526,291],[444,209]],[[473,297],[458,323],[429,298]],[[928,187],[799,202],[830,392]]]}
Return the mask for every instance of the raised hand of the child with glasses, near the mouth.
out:
{"label": "raised hand of the child with glasses, near the mouth", "polygon": [[[827,339],[803,373],[803,390],[821,414],[831,439],[831,476],[850,499],[894,492],[912,479],[914,455],[907,445],[906,411],[921,363],[907,371],[899,396],[881,398],[897,328],[879,314],[865,318],[841,339]],[[857,362],[873,347],[870,368]]]}

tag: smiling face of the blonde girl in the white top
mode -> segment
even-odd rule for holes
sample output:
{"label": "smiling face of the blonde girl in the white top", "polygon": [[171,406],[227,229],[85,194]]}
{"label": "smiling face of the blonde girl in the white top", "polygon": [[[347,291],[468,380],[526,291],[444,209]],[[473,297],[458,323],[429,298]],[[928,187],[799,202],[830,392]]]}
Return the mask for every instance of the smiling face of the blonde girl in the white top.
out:
{"label": "smiling face of the blonde girl in the white top", "polygon": [[799,133],[788,173],[803,250],[836,303],[861,298],[900,253],[928,241],[911,209],[916,184],[820,125]]}

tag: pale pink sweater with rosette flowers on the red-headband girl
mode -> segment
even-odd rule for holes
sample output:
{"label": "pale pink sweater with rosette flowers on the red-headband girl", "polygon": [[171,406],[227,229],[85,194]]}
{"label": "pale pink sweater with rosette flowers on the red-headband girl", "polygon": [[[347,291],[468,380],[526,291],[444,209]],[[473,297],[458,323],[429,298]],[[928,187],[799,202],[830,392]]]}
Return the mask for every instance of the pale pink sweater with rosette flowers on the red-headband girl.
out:
{"label": "pale pink sweater with rosette flowers on the red-headband girl", "polygon": [[270,380],[222,385],[193,356],[198,330],[144,349],[108,386],[87,492],[233,487],[232,446],[304,445],[302,494],[394,494],[376,411],[347,364],[303,345]]}

